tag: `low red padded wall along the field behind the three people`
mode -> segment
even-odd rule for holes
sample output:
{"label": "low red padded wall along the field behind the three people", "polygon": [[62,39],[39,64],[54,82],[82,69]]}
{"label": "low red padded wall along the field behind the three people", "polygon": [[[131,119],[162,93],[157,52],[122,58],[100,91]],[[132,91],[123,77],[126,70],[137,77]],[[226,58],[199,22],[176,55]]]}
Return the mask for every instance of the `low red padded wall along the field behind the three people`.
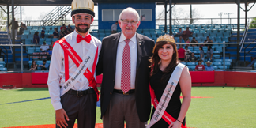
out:
{"label": "low red padded wall along the field behind the three people", "polygon": [[[192,86],[256,87],[256,73],[228,71],[191,71]],[[47,88],[48,73],[0,73],[0,87]],[[102,76],[97,76],[100,84]]]}

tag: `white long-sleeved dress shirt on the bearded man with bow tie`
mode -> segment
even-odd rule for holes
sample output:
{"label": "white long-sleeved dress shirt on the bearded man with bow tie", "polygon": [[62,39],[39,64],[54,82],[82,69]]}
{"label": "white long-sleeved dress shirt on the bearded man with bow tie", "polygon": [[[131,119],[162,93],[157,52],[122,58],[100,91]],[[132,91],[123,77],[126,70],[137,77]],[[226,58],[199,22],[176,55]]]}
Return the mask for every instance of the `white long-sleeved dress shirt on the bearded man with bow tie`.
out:
{"label": "white long-sleeved dress shirt on the bearded man with bow tie", "polygon": [[[83,51],[87,54],[90,44],[87,43],[85,40],[82,40],[80,43],[77,43],[77,35],[76,31],[70,33],[69,35],[65,36],[64,38],[70,46],[73,47],[73,50],[77,52],[77,55],[83,59]],[[95,44],[98,46],[98,51],[100,53],[101,49],[101,41],[96,39],[92,36],[92,40],[90,43]],[[55,47],[53,47],[52,55],[51,55],[51,65],[49,70],[49,77],[48,77],[48,88],[51,96],[51,104],[55,108],[55,110],[62,109],[62,104],[60,102],[60,86],[65,83],[65,66],[64,66],[64,51],[59,43],[55,43]],[[77,65],[73,62],[73,60],[69,56],[69,76],[71,77],[72,74],[77,70]],[[92,71],[92,66],[88,67],[88,70]],[[96,75],[94,74],[94,77]],[[60,81],[61,78],[61,82]],[[86,90],[88,89],[89,83],[87,78],[82,75],[79,81],[71,88],[73,90]]]}

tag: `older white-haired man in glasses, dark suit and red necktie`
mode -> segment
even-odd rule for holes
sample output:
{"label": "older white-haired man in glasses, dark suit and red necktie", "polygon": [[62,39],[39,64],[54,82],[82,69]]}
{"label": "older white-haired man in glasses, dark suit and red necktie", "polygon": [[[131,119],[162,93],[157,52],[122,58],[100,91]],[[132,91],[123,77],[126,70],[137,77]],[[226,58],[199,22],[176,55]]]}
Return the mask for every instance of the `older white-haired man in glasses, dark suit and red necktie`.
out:
{"label": "older white-haired man in glasses, dark suit and red necktie", "polygon": [[104,128],[145,127],[151,111],[149,73],[154,41],[136,33],[139,15],[120,13],[122,32],[104,38],[96,73],[103,73],[100,110]]}

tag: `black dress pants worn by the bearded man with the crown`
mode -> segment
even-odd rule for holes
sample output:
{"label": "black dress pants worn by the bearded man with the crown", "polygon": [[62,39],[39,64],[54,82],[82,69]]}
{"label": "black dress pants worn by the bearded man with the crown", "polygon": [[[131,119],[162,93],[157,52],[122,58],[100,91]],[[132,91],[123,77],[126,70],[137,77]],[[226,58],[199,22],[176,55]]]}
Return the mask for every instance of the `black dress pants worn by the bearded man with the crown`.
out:
{"label": "black dress pants worn by the bearded man with the crown", "polygon": [[[93,89],[92,89],[93,90]],[[65,93],[61,96],[63,109],[66,111],[70,121],[67,128],[73,128],[77,119],[78,128],[94,128],[96,123],[96,93],[88,93],[85,96],[76,96]],[[56,125],[56,128],[59,126]]]}

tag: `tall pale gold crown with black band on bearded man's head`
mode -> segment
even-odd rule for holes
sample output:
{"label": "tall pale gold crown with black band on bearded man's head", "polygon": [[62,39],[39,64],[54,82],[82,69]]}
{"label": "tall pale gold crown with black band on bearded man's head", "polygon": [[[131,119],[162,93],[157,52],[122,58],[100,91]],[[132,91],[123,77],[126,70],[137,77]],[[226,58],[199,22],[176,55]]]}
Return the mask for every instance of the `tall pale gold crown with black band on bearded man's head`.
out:
{"label": "tall pale gold crown with black band on bearded man's head", "polygon": [[88,13],[95,17],[94,2],[92,0],[73,0],[71,9],[71,17],[77,13]]}

